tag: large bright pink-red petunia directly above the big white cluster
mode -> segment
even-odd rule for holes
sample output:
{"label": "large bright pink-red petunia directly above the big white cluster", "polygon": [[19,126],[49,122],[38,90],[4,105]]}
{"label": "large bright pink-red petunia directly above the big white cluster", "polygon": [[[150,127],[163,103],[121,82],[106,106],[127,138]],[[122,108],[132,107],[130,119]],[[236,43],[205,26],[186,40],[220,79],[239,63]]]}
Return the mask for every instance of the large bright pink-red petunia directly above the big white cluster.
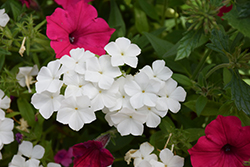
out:
{"label": "large bright pink-red petunia directly above the big white cluster", "polygon": [[57,8],[46,19],[47,36],[56,58],[69,55],[71,49],[78,47],[103,55],[106,53],[104,46],[115,31],[104,19],[97,18],[96,9],[83,0],[67,10]]}

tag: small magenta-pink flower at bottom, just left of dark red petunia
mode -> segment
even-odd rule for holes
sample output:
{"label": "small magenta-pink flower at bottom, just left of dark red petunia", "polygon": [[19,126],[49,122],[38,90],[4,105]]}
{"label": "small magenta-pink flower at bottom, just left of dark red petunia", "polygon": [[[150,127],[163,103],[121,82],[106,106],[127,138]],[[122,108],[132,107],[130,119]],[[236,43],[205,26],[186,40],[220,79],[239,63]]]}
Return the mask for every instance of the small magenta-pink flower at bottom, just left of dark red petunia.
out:
{"label": "small magenta-pink flower at bottom, just left of dark red petunia", "polygon": [[72,157],[73,157],[73,149],[72,147],[70,147],[68,151],[64,149],[59,150],[54,156],[54,160],[56,163],[60,163],[63,166],[68,167],[72,163]]}

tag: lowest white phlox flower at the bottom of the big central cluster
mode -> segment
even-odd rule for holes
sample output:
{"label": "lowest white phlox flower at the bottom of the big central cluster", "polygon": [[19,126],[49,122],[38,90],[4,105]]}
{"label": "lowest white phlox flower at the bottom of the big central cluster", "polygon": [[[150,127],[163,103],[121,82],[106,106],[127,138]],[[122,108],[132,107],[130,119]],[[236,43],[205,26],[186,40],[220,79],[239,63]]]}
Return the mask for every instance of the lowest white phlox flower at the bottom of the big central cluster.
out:
{"label": "lowest white phlox flower at the bottom of the big central cluster", "polygon": [[122,135],[132,134],[134,136],[142,135],[143,123],[147,116],[129,108],[123,108],[121,111],[110,116],[111,120],[117,124],[117,130]]}

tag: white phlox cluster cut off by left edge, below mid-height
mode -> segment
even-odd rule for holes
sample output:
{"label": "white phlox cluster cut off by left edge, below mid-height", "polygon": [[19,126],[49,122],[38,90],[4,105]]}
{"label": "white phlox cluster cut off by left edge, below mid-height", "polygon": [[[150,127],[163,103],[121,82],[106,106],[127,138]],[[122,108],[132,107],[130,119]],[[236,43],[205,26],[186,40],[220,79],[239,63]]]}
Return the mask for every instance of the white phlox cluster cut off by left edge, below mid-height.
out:
{"label": "white phlox cluster cut off by left edge, below mid-height", "polygon": [[[4,144],[10,144],[14,141],[14,134],[12,132],[14,128],[14,121],[5,117],[5,112],[2,109],[8,109],[10,107],[10,98],[4,95],[4,92],[0,89],[0,151]],[[2,154],[0,152],[0,159]]]}

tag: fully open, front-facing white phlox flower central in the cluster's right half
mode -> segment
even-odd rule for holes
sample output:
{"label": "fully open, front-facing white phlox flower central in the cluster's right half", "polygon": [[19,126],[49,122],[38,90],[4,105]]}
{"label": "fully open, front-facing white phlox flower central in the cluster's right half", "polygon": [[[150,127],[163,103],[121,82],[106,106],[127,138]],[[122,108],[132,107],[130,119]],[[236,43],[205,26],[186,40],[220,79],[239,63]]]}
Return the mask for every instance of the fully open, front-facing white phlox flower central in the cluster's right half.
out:
{"label": "fully open, front-facing white phlox flower central in the cluster's right half", "polygon": [[128,81],[124,85],[124,90],[131,96],[132,107],[138,109],[144,105],[149,107],[156,105],[158,99],[156,93],[158,93],[160,86],[160,82],[149,79],[145,73],[141,72],[134,77],[134,80]]}

